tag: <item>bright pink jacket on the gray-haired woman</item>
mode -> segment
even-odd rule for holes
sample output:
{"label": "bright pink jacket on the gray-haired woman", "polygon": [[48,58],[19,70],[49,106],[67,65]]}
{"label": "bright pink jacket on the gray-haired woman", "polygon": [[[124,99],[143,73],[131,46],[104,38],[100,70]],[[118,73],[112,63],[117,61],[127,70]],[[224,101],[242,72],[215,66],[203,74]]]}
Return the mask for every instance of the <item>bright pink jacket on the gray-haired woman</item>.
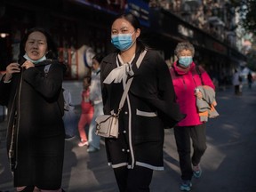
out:
{"label": "bright pink jacket on the gray-haired woman", "polygon": [[[204,85],[208,85],[215,89],[210,76],[206,73],[204,68],[199,67]],[[180,105],[180,111],[186,114],[186,118],[180,121],[178,126],[193,126],[203,124],[200,122],[200,117],[196,108],[196,96],[194,91],[196,86],[202,85],[201,78],[196,71],[196,64],[193,62],[188,70],[182,70],[174,62],[170,68],[172,76],[172,83],[176,93],[177,102]]]}

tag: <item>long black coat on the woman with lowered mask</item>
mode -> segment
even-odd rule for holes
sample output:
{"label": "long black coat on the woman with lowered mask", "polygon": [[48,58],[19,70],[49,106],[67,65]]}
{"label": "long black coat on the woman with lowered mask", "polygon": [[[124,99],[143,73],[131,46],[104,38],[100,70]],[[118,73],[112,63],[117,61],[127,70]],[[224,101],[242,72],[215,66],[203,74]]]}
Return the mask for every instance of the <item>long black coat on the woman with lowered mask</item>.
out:
{"label": "long black coat on the woman with lowered mask", "polygon": [[[44,65],[50,63],[45,76]],[[47,60],[13,74],[11,83],[4,84],[4,77],[0,81],[0,104],[8,108],[7,153],[13,148],[9,160],[14,186],[60,188],[65,131],[58,101],[64,70]]]}

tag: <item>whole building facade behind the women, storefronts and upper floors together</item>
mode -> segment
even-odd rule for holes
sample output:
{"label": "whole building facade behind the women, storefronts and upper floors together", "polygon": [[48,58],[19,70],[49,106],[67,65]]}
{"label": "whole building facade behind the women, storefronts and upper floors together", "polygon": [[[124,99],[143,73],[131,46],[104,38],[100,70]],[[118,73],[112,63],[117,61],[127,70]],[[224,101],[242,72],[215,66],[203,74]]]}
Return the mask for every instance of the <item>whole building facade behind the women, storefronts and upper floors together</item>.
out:
{"label": "whole building facade behind the women, storefronts and upper floors together", "polygon": [[210,0],[2,0],[0,71],[19,56],[20,37],[28,28],[46,28],[67,64],[64,87],[80,103],[81,80],[90,73],[92,55],[111,52],[110,25],[117,14],[132,12],[142,24],[142,40],[172,65],[180,41],[196,47],[195,60],[212,78],[232,76],[246,60],[237,48],[236,23],[228,1]]}

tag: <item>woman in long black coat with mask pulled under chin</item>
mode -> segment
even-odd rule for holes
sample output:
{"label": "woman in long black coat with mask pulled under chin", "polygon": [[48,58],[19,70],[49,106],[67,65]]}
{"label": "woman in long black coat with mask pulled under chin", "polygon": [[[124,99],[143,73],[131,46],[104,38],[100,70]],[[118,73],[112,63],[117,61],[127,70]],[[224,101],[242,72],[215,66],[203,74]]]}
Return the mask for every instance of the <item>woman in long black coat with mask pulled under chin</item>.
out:
{"label": "woman in long black coat with mask pulled under chin", "polygon": [[[51,36],[32,28],[20,60],[6,68],[0,104],[8,108],[7,152],[17,191],[61,191],[65,131],[61,92],[64,65]],[[45,65],[51,65],[44,71]]]}

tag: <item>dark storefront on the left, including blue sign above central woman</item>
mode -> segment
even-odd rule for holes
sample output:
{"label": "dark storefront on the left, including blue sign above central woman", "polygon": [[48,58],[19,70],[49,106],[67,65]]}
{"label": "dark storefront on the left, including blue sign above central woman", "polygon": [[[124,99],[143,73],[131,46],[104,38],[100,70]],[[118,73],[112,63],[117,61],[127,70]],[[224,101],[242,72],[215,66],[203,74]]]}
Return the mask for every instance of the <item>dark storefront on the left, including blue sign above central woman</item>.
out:
{"label": "dark storefront on the left, including blue sign above central woman", "polygon": [[92,55],[112,51],[110,25],[117,14],[133,12],[148,28],[147,0],[4,0],[0,3],[0,71],[19,58],[20,38],[28,28],[46,28],[68,66],[63,86],[79,104],[82,79],[90,74]]}

